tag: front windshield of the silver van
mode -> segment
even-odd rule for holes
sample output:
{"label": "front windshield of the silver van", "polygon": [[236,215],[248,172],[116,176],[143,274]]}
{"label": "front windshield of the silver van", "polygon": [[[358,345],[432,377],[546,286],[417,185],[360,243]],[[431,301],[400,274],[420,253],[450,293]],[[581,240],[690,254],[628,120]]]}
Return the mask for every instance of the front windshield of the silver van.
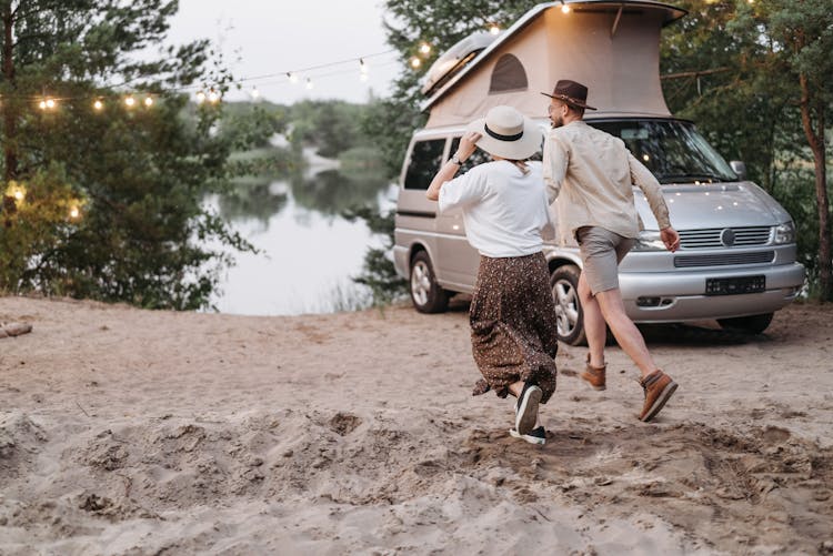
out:
{"label": "front windshield of the silver van", "polygon": [[669,120],[586,122],[622,139],[660,183],[737,181],[732,168],[691,123]]}

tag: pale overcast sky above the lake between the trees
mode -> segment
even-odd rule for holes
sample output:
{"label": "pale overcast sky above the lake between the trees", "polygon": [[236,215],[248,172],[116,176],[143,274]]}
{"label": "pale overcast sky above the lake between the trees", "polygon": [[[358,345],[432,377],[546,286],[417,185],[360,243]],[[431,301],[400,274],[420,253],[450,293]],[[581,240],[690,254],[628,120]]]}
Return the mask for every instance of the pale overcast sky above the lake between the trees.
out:
{"label": "pale overcast sky above the lake between the trees", "polygon": [[[235,79],[273,75],[243,81],[242,91],[230,93],[229,100],[251,98],[257,87],[257,94],[282,104],[303,99],[367,102],[371,91],[388,95],[403,67],[385,43],[381,2],[180,0],[169,39],[174,44],[212,40]],[[361,80],[363,57],[367,81]],[[327,64],[333,65],[301,71]],[[299,82],[292,84],[287,72],[297,72]]]}

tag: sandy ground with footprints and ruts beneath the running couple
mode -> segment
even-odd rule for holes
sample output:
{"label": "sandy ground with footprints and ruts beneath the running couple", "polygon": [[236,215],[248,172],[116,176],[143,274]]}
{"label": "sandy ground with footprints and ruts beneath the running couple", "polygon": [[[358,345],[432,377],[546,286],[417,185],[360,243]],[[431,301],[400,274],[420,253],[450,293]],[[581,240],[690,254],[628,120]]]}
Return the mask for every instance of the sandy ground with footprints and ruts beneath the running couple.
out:
{"label": "sandy ground with footprints and ruts beneath the running couple", "polygon": [[472,397],[465,305],[243,317],[0,297],[0,554],[833,553],[833,306],[562,347],[545,446]]}

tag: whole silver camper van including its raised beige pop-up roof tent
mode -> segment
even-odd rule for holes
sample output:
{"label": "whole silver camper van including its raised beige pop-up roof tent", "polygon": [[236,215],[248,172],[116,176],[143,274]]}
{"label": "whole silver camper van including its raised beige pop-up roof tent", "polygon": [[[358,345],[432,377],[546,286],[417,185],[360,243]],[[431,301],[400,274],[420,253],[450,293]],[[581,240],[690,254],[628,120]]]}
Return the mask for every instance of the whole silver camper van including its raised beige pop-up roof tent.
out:
{"label": "whole silver camper van including its raised beige pop-up roof tent", "polygon": [[[799,295],[805,272],[796,262],[790,214],[746,180],[742,162],[726,163],[693,122],[674,118],[665,104],[660,32],[684,14],[654,1],[542,3],[490,42],[480,37],[438,60],[423,87],[429,119],[411,139],[395,218],[394,263],[418,311],[442,312],[454,293],[471,293],[480,261],[462,214],[440,214],[425,199],[431,179],[456,151],[466,123],[494,105],[515,107],[549,129],[550,99],[540,93],[559,79],[589,87],[588,103],[599,110],[586,112],[585,121],[621,138],[653,172],[680,233],[680,250],[666,251],[645,196],[634,190],[643,231],[619,276],[634,322],[716,320],[761,333]],[[461,172],[484,156],[476,151]],[[555,220],[559,203],[551,208]],[[560,237],[545,244],[544,254],[559,337],[583,343],[578,245]]]}

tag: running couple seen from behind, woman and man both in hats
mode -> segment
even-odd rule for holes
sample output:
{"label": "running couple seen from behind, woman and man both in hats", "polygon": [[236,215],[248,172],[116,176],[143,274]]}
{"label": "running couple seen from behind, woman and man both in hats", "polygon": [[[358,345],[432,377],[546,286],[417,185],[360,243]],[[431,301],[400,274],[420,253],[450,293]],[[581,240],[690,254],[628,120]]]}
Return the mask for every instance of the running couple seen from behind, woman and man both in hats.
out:
{"label": "running couple seen from behind, woman and man both in hats", "polygon": [[[579,299],[589,353],[581,377],[605,388],[610,326],[642,375],[640,419],[651,421],[676,390],[625,314],[618,276],[640,230],[634,184],[648,198],[665,246],[672,252],[680,246],[660,184],[622,140],[584,123],[584,110],[595,110],[586,104],[586,87],[561,80],[552,94],[542,94],[551,99],[552,125],[543,164],[529,160],[541,145],[538,125],[511,107],[495,107],[469,124],[425,193],[439,201],[440,212],[462,209],[469,243],[481,255],[469,312],[472,354],[483,374],[474,394],[494,390],[500,397],[516,397],[510,434],[533,444],[545,442],[544,428],[535,426],[538,407],[555,391],[555,306],[542,250],[543,240],[554,237],[550,204],[559,195],[559,226],[562,235],[575,237],[583,262]],[[492,162],[454,178],[475,148]]]}

